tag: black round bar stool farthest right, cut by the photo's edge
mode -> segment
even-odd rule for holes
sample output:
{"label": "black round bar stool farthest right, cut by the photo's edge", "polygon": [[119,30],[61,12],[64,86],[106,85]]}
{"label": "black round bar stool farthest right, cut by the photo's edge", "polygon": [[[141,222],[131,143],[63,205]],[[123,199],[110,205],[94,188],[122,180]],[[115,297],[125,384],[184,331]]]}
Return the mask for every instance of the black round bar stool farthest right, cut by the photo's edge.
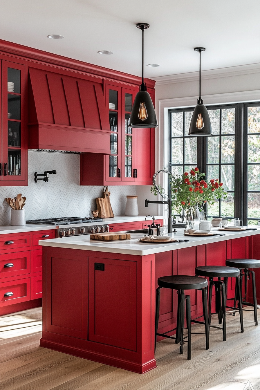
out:
{"label": "black round bar stool farthest right, cut by the photo's edge", "polygon": [[[260,260],[255,260],[255,259],[228,259],[226,260],[226,265],[231,266],[231,267],[237,267],[240,269],[240,287],[242,291],[242,284],[243,284],[243,278],[244,278],[244,298],[242,298],[242,305],[247,305],[247,306],[253,306],[254,310],[251,309],[243,309],[248,312],[254,312],[254,317],[255,317],[255,324],[258,325],[258,320],[257,320],[257,309],[260,307],[257,306],[257,301],[256,301],[256,289],[255,289],[255,272],[251,271],[248,268],[260,268]],[[253,302],[247,302],[247,289],[248,289],[248,280],[252,279],[252,289],[253,289]],[[236,302],[238,300],[237,296],[237,280],[235,284],[235,298],[234,298],[234,309],[236,308]],[[235,315],[235,313],[234,313]]]}

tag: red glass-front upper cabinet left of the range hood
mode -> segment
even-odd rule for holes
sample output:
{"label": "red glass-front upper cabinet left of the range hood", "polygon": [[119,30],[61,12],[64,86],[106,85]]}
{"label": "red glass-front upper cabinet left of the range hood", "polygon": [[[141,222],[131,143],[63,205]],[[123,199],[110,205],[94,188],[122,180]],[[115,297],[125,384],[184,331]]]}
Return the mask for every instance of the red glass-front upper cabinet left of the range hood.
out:
{"label": "red glass-front upper cabinet left of the range hood", "polygon": [[2,61],[2,181],[24,181],[25,66]]}

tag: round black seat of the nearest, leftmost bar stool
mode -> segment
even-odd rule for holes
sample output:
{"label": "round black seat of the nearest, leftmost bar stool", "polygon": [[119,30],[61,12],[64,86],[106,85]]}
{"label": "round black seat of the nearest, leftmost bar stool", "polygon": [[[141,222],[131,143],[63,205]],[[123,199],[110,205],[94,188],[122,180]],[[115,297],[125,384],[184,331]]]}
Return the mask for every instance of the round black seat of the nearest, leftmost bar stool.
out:
{"label": "round black seat of the nearest, leftmost bar stool", "polygon": [[158,279],[157,283],[160,287],[174,290],[203,289],[208,285],[207,279],[189,275],[163,276]]}

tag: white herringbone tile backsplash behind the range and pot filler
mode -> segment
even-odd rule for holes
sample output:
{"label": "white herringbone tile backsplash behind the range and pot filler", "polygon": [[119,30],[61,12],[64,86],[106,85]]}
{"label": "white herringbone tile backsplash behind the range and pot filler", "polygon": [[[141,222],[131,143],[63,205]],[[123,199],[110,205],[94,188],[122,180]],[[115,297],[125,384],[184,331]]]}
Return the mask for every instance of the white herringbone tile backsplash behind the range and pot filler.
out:
{"label": "white herringbone tile backsplash behind the range and pot filler", "polygon": [[[35,183],[34,172],[57,171],[46,183]],[[28,151],[28,186],[0,187],[0,225],[10,224],[11,207],[5,198],[18,193],[26,197],[25,218],[34,220],[55,217],[88,217],[96,209],[96,198],[103,186],[80,186],[78,154]],[[114,215],[124,215],[126,195],[136,195],[136,186],[110,186]]]}

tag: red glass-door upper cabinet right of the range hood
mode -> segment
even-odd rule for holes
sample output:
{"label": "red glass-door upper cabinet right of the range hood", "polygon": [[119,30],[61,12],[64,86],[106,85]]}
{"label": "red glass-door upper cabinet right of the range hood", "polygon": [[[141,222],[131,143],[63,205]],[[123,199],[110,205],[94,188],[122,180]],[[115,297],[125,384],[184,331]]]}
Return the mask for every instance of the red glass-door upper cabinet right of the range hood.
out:
{"label": "red glass-door upper cabinet right of the range hood", "polygon": [[[80,185],[152,184],[154,129],[129,128],[132,105],[138,89],[111,83],[106,84],[105,88],[111,154],[81,154]],[[154,101],[152,90],[149,92]]]}

